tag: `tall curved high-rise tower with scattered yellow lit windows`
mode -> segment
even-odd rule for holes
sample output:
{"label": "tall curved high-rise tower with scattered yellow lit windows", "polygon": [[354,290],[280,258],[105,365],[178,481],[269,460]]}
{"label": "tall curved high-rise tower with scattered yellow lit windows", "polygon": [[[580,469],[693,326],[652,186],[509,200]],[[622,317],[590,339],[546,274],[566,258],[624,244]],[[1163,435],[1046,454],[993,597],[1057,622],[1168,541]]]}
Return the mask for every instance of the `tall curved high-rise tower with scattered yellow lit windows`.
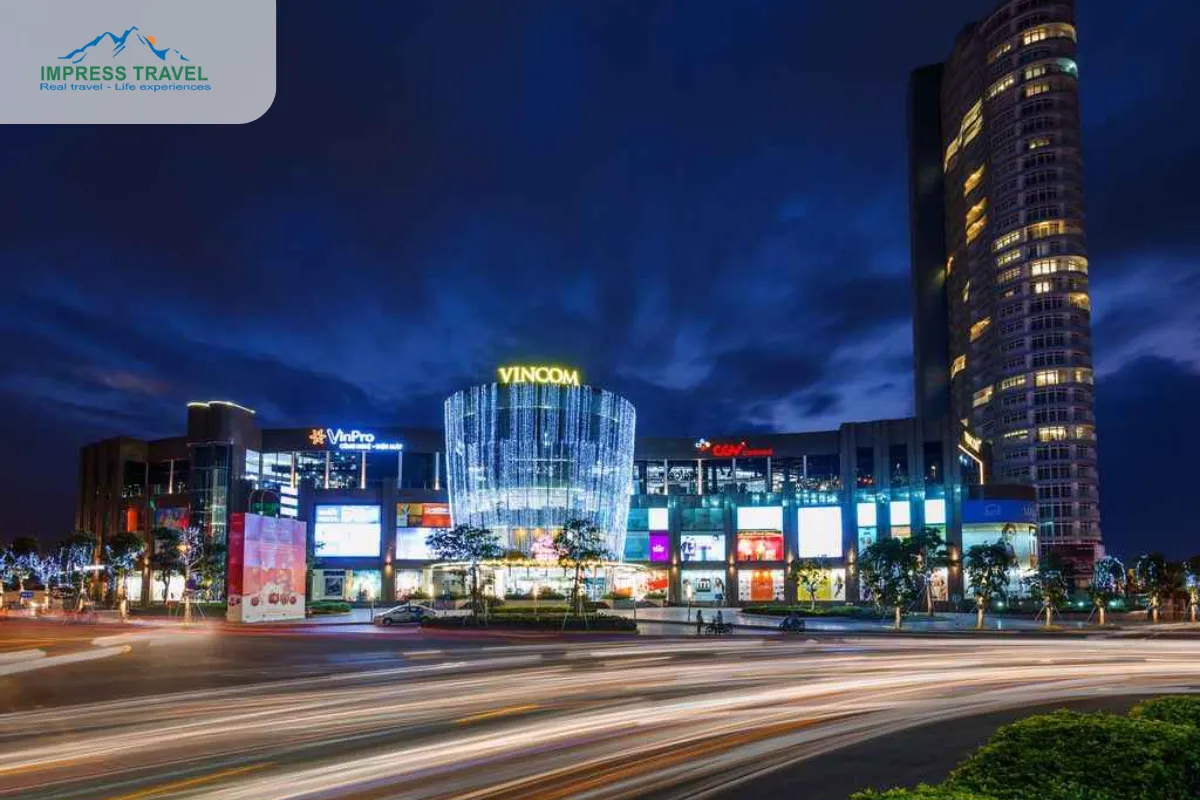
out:
{"label": "tall curved high-rise tower with scattered yellow lit windows", "polygon": [[912,74],[910,196],[917,411],[948,403],[992,443],[996,480],[1037,487],[1043,549],[1090,561],[1100,524],[1074,18],[1073,0],[1009,0]]}

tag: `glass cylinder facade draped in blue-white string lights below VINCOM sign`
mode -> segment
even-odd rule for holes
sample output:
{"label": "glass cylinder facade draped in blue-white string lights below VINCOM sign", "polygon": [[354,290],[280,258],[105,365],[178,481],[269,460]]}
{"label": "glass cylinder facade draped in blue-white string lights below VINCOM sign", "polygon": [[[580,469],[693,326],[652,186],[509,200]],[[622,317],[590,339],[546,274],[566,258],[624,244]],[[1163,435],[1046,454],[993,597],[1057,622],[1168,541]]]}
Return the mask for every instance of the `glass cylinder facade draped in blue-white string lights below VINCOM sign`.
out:
{"label": "glass cylinder facade draped in blue-white string lights below VINCOM sign", "polygon": [[622,553],[634,464],[632,404],[592,386],[486,384],[445,403],[455,524],[490,528],[511,549],[571,518]]}

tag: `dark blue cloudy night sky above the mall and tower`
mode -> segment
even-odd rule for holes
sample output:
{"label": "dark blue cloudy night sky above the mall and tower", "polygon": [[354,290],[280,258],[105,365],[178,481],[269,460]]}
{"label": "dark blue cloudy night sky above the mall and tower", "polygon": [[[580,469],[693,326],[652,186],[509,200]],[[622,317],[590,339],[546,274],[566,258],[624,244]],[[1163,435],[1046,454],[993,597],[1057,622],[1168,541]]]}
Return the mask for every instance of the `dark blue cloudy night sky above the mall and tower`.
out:
{"label": "dark blue cloudy night sky above the mall and tower", "polygon": [[[642,434],[911,414],[908,72],[992,5],[286,0],[257,122],[0,130],[0,537],[193,399],[439,426],[554,361]],[[1079,5],[1105,540],[1190,555],[1200,4]]]}

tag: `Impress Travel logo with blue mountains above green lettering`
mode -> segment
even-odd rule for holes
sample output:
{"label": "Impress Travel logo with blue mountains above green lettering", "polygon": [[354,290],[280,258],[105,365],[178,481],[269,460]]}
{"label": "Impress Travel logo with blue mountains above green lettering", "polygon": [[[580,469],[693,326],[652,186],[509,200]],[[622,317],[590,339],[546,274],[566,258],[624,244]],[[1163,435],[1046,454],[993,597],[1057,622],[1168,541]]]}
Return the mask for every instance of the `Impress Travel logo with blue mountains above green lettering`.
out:
{"label": "Impress Travel logo with blue mountains above green lettering", "polygon": [[43,65],[40,91],[52,92],[208,92],[204,65],[174,47],[158,47],[137,26],[116,35],[104,31],[90,42]]}

